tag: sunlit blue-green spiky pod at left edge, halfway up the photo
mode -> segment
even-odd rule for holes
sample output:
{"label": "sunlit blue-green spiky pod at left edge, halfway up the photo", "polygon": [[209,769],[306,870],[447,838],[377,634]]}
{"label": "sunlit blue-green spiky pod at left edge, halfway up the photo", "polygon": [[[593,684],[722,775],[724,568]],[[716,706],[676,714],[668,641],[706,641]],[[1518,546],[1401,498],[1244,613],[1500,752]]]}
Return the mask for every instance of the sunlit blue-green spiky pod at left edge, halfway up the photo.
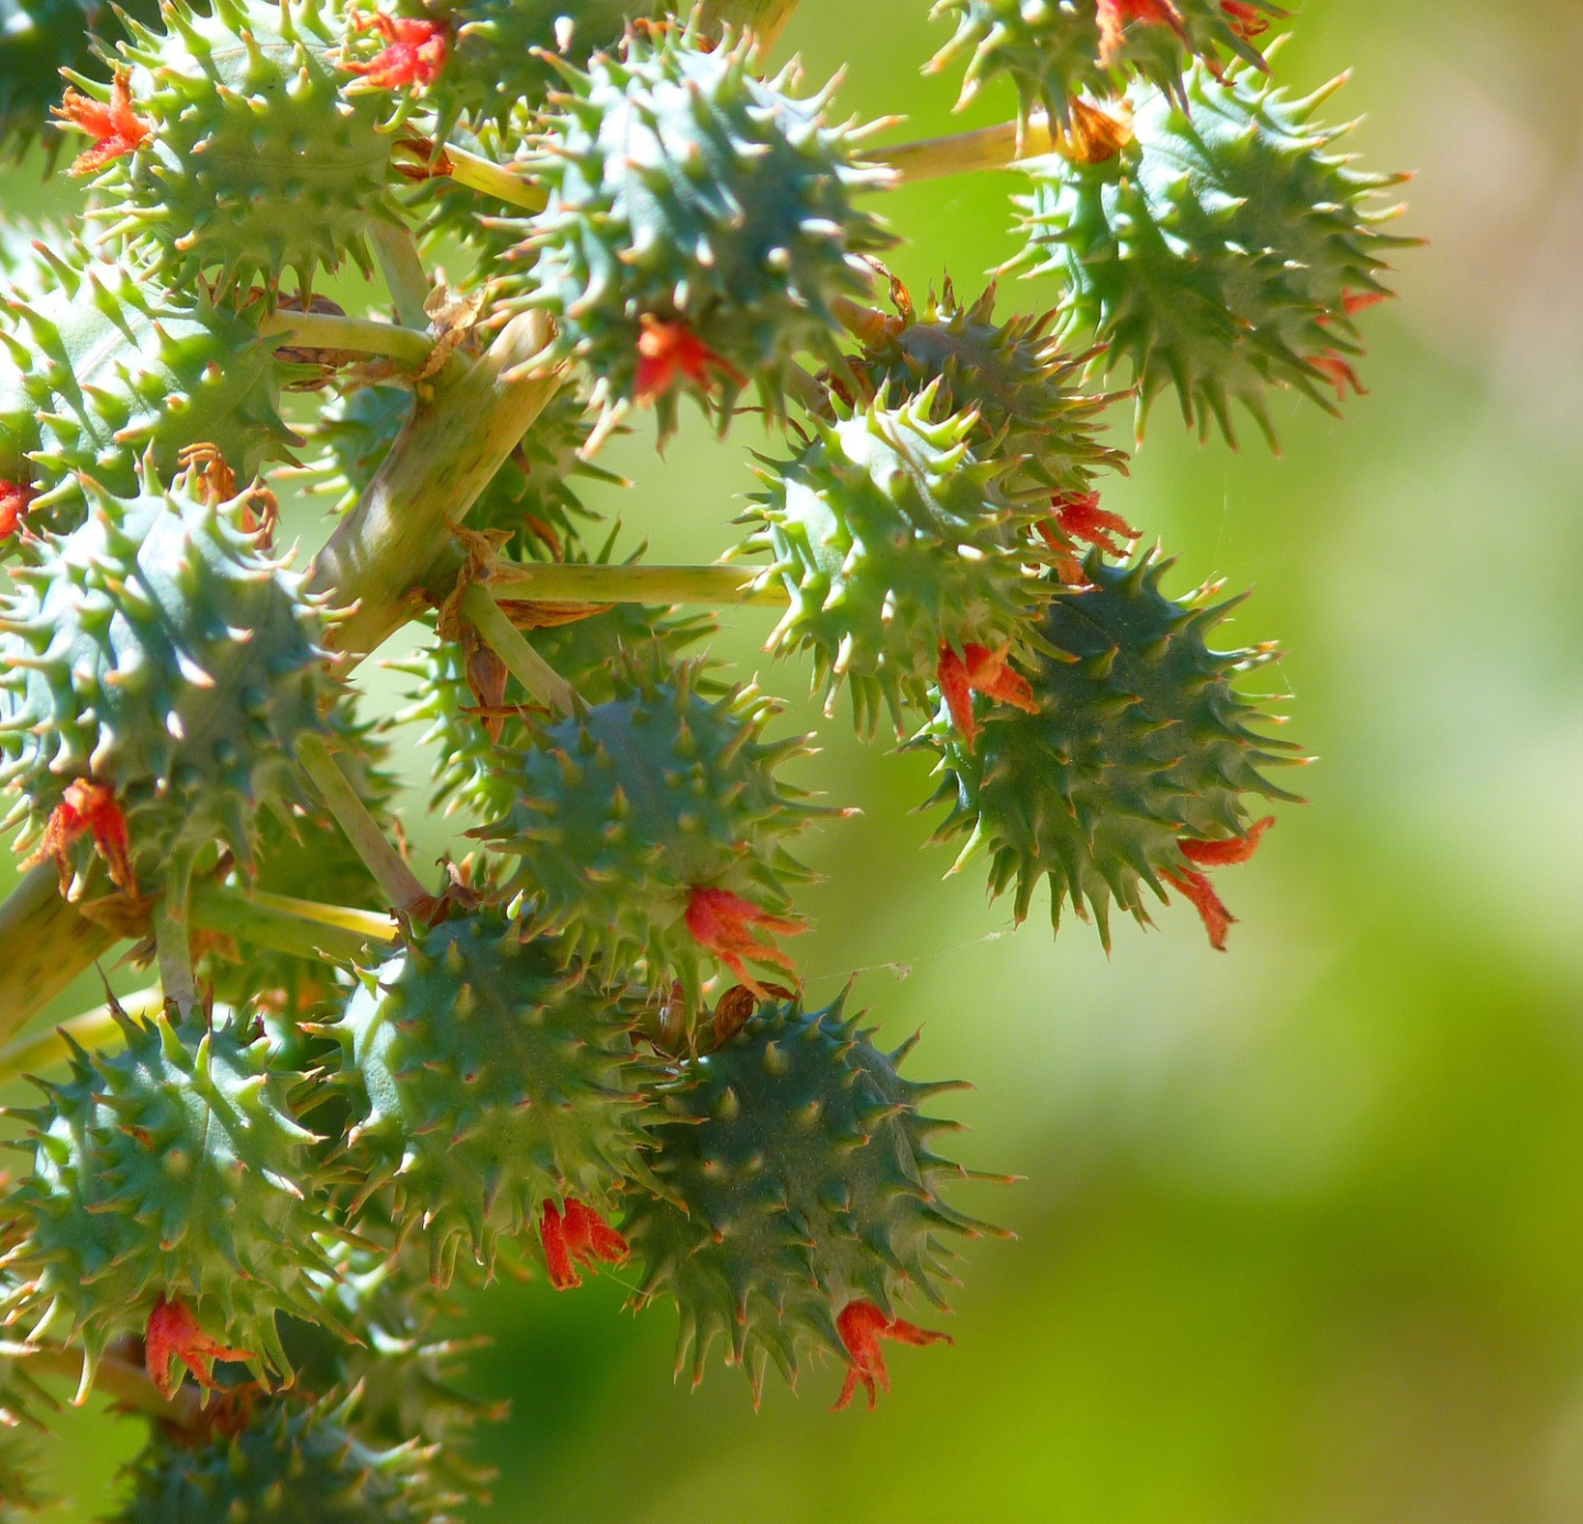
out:
{"label": "sunlit blue-green spiky pod at left edge, halfway up the photo", "polygon": [[[293,764],[306,732],[348,730],[321,608],[263,548],[244,494],[192,477],[112,497],[40,542],[0,615],[0,776],[35,841],[78,779],[108,789],[139,884],[177,898],[215,841],[253,860],[263,810],[315,808]],[[87,843],[82,843],[87,848]],[[131,887],[131,886],[123,886]]]}

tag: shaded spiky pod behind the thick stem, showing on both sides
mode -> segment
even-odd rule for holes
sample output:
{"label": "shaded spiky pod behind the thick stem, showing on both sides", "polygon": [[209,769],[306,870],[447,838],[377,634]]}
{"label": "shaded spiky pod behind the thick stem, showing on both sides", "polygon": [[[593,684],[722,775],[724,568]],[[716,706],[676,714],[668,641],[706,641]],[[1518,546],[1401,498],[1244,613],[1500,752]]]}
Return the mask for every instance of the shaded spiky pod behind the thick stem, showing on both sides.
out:
{"label": "shaded spiky pod behind the thick stem, showing on both sides", "polygon": [[[323,445],[312,466],[317,490],[332,494],[339,510],[350,509],[410,412],[412,393],[400,387],[364,387],[331,402],[312,431]],[[595,516],[578,497],[575,480],[625,485],[578,453],[592,431],[594,420],[576,390],[557,393],[483,490],[467,528],[507,531],[502,548],[514,556],[559,554],[578,524]]]}

